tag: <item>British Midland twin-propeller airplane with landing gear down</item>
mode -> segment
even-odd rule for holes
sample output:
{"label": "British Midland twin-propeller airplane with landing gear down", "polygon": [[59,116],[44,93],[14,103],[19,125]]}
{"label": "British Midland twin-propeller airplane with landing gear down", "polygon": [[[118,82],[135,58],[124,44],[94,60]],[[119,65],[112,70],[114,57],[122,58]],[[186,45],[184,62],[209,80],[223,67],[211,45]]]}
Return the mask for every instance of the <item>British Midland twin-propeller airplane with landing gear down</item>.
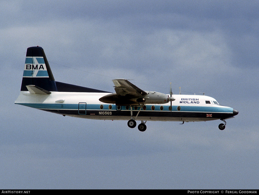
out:
{"label": "British Midland twin-propeller airplane with landing gear down", "polygon": [[15,104],[53,112],[63,116],[128,120],[130,128],[141,121],[139,131],[147,129],[147,121],[211,121],[220,119],[224,130],[226,119],[238,111],[219,105],[203,95],[163,94],[143,91],[126,79],[114,79],[115,93],[55,81],[42,47],[29,47],[20,94]]}

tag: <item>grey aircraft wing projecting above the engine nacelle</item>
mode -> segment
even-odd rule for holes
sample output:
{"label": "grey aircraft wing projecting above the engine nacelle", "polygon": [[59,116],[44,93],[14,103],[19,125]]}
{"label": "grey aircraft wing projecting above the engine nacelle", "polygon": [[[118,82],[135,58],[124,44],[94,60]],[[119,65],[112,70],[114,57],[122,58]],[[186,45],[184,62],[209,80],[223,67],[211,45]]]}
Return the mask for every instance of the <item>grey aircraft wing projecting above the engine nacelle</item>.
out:
{"label": "grey aircraft wing projecting above the engine nacelle", "polygon": [[117,95],[143,96],[147,94],[147,92],[133,85],[126,79],[114,79],[112,81]]}

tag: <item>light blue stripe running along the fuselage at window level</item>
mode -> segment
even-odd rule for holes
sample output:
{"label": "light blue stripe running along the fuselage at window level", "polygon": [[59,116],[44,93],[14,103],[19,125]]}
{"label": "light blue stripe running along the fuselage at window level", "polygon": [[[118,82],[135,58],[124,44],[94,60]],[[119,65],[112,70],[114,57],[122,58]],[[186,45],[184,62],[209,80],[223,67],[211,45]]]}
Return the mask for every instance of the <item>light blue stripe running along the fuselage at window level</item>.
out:
{"label": "light blue stripe running along the fuselage at window level", "polygon": [[[40,104],[40,103],[17,103],[23,106],[28,106],[32,108],[37,108],[37,109],[58,109],[58,110],[66,110],[66,109],[73,109],[73,110],[78,110],[78,104]],[[102,110],[110,110],[108,108],[109,105],[104,104],[104,108]],[[154,111],[161,111],[160,110],[160,105],[156,106],[158,109],[155,109]],[[170,112],[168,109],[169,106],[164,106],[164,110],[161,112]],[[137,110],[133,108],[133,111],[138,111],[140,107],[138,107]],[[96,111],[102,111],[100,109],[100,104],[86,104],[86,109],[87,110],[96,110]],[[116,110],[116,106],[112,104],[112,111]],[[122,106],[121,110],[126,110],[125,106]],[[128,110],[130,111],[130,109]],[[143,111],[141,109],[141,111]],[[145,111],[152,111],[151,110],[151,105],[147,105],[147,109]],[[172,111],[177,111],[177,107],[172,108]],[[203,107],[203,106],[181,106],[181,111],[177,112],[219,112],[219,113],[233,113],[233,108],[217,108],[217,107]]]}

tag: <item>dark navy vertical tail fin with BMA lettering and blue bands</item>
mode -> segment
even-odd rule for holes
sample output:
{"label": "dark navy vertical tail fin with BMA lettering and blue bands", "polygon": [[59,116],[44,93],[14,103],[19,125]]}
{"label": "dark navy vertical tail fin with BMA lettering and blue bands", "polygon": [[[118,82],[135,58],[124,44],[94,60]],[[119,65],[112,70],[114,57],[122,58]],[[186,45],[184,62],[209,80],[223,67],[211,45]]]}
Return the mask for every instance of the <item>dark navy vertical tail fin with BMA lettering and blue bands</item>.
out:
{"label": "dark navy vertical tail fin with BMA lettering and blue bands", "polygon": [[42,47],[27,48],[21,91],[29,91],[27,86],[36,86],[33,87],[34,91],[36,88],[57,91],[55,79]]}

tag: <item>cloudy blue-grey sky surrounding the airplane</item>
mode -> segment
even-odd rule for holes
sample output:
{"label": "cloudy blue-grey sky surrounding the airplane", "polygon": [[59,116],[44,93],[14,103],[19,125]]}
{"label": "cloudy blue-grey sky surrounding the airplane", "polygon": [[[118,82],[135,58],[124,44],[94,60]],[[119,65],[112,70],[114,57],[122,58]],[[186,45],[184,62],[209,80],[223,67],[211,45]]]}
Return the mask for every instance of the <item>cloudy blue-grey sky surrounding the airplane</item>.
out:
{"label": "cloudy blue-grey sky surrounding the airplane", "polygon": [[[1,1],[0,188],[258,189],[258,1]],[[202,94],[239,111],[210,122],[63,117],[15,105],[28,47],[56,81],[112,79]]]}

